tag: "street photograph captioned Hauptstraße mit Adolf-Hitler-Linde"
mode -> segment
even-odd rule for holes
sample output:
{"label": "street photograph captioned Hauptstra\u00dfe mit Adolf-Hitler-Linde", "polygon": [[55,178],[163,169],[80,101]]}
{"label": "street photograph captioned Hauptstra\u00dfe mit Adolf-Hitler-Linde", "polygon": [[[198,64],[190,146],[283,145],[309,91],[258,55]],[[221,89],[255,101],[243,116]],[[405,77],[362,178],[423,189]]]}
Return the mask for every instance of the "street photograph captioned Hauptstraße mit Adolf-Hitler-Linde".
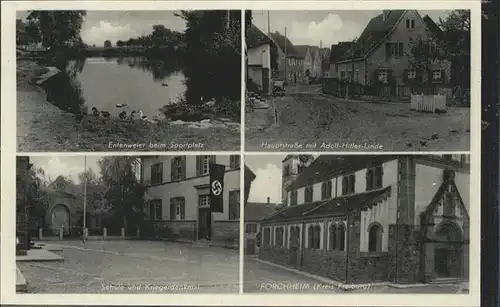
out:
{"label": "street photograph captioned Hauptstra\u00dfe mit Adolf-Hitler-Linde", "polygon": [[245,150],[470,150],[470,10],[245,14]]}

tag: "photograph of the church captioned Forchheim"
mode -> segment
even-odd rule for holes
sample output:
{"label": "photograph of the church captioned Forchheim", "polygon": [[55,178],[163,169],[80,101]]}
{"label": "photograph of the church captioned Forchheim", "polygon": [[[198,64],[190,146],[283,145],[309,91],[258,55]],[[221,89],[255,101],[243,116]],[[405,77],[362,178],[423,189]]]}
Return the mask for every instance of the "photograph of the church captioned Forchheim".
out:
{"label": "photograph of the church captioned Forchheim", "polygon": [[244,293],[469,293],[469,155],[245,165]]}

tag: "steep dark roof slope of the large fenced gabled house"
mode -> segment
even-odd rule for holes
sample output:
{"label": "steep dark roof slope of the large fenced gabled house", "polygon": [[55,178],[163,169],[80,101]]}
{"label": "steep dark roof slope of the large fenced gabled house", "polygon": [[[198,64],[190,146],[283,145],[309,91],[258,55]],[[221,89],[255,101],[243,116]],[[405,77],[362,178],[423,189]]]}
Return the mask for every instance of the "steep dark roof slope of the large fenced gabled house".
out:
{"label": "steep dark roof slope of the large fenced gabled house", "polygon": [[384,13],[373,17],[352,46],[350,52],[344,53],[340,60],[361,58],[368,55],[368,53],[378,46],[384,37],[394,29],[405,11],[406,10],[388,10],[385,13],[385,20]]}

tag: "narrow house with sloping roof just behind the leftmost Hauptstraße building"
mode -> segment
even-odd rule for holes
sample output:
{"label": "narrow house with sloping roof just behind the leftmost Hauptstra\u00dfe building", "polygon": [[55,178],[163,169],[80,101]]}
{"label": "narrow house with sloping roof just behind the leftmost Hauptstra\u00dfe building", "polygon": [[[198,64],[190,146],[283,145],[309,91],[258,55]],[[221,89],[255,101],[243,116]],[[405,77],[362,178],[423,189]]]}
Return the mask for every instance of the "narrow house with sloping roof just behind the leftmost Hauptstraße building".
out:
{"label": "narrow house with sloping roof just behind the leftmost Hauptstra\u00dfe building", "polygon": [[284,80],[289,84],[302,83],[304,57],[295,49],[292,42],[279,32],[269,33],[269,38],[278,47],[278,72],[273,78]]}

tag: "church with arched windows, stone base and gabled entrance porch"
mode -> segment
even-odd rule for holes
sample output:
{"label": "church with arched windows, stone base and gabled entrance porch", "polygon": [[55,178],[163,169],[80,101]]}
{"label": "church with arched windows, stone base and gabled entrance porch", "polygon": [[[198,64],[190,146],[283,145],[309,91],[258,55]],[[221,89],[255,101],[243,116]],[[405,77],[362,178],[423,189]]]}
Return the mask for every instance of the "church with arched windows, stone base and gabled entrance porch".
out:
{"label": "church with arched windows, stone base and gabled entrance porch", "polygon": [[468,279],[469,155],[296,155],[283,165],[302,169],[283,179],[285,208],[261,220],[260,259],[345,284]]}

